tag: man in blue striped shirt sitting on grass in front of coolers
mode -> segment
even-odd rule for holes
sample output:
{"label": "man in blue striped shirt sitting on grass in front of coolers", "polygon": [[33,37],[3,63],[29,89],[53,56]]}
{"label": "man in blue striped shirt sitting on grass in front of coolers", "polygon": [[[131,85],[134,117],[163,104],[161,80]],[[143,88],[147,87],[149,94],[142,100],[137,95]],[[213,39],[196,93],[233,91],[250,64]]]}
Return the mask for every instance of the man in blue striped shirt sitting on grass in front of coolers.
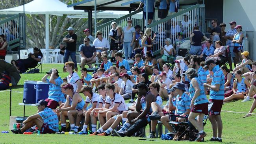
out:
{"label": "man in blue striped shirt sitting on grass in front of coolers", "polygon": [[22,123],[24,127],[21,129],[13,129],[11,130],[15,134],[22,134],[27,129],[32,126],[37,125],[40,133],[56,133],[59,131],[59,120],[58,116],[52,109],[47,107],[47,102],[45,100],[40,100],[35,104],[38,109],[38,113],[32,116],[29,116]]}

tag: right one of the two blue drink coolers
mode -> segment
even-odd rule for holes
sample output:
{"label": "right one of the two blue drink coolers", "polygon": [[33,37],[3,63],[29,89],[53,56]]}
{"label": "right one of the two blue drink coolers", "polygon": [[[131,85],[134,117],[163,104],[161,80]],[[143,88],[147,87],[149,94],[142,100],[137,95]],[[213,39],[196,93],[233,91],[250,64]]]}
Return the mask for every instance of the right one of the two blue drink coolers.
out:
{"label": "right one of the two blue drink coolers", "polygon": [[44,83],[43,81],[37,81],[36,85],[36,94],[35,94],[35,102],[38,103],[39,100],[45,100],[48,98],[49,84]]}

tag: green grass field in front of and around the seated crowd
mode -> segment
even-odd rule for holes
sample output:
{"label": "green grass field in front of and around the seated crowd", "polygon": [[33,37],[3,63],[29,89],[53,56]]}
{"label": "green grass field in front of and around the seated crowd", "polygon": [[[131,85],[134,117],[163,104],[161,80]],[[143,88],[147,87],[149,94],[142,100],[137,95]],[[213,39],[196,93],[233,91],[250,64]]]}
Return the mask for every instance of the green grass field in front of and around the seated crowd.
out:
{"label": "green grass field in front of and around the seated crowd", "polygon": [[[43,72],[48,71],[50,68],[57,68],[59,70],[59,75],[61,78],[67,76],[68,73],[62,72],[62,66],[60,64],[43,64]],[[81,73],[78,72],[80,75]],[[45,75],[43,74],[21,74],[21,79],[17,86],[13,87],[13,91],[23,92],[23,83],[25,80],[35,80],[40,81],[41,78]],[[13,92],[12,93],[12,116],[22,116],[23,107],[18,105],[22,102],[23,94]],[[166,103],[166,102],[163,102]],[[252,101],[241,103],[241,100],[236,102],[225,103],[222,110],[225,111],[237,111],[247,113],[250,109]],[[0,92],[0,131],[9,131],[9,92]],[[36,107],[26,107],[26,116],[36,113]],[[256,112],[255,112],[256,113]],[[248,118],[242,118],[245,114],[240,113],[228,113],[222,112],[223,120],[223,142],[227,144],[241,144],[241,143],[256,143],[256,116],[251,116]],[[147,128],[148,130],[148,128]],[[207,122],[205,126],[205,131],[208,133],[206,140],[210,139],[212,136],[211,124],[210,121]],[[10,131],[9,131],[10,132]],[[146,135],[148,135],[148,131]],[[66,144],[66,143],[98,143],[98,144],[137,144],[137,143],[159,143],[165,144],[168,143],[191,143],[191,142],[174,142],[174,141],[164,141],[160,138],[154,139],[155,141],[142,141],[138,140],[137,137],[100,137],[93,136],[89,137],[88,135],[14,135],[12,133],[0,134],[0,143],[56,143],[56,144]],[[195,142],[193,142],[195,143]],[[213,142],[206,142],[213,143]]]}

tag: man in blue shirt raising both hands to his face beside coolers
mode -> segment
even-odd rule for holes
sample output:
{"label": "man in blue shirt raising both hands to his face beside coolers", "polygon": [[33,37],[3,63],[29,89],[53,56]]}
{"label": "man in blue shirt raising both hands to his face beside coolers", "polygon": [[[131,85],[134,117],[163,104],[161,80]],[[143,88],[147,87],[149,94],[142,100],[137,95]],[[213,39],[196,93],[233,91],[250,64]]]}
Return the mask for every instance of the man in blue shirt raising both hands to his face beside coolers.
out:
{"label": "man in blue shirt raising both hands to his face beside coolers", "polygon": [[[50,79],[47,77],[50,76]],[[56,109],[59,106],[59,100],[61,98],[62,92],[60,85],[63,83],[61,77],[59,77],[59,72],[56,68],[50,69],[46,72],[46,75],[42,78],[42,81],[50,84],[48,98],[46,98],[46,102],[48,102],[47,107],[51,109]]]}

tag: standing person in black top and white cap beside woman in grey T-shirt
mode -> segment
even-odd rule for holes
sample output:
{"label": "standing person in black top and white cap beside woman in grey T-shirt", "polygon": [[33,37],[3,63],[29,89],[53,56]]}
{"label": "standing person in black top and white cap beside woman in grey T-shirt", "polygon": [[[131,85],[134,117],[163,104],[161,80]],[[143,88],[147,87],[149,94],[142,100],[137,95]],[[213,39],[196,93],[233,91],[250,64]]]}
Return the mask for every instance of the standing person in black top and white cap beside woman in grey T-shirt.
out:
{"label": "standing person in black top and white cap beside woman in grey T-shirt", "polygon": [[113,60],[115,59],[115,53],[118,50],[118,43],[119,43],[119,39],[118,39],[118,35],[117,35],[117,23],[116,22],[112,22],[111,23],[111,30],[109,31],[109,39],[110,40],[110,51],[112,51],[111,53],[111,62],[113,62]]}

